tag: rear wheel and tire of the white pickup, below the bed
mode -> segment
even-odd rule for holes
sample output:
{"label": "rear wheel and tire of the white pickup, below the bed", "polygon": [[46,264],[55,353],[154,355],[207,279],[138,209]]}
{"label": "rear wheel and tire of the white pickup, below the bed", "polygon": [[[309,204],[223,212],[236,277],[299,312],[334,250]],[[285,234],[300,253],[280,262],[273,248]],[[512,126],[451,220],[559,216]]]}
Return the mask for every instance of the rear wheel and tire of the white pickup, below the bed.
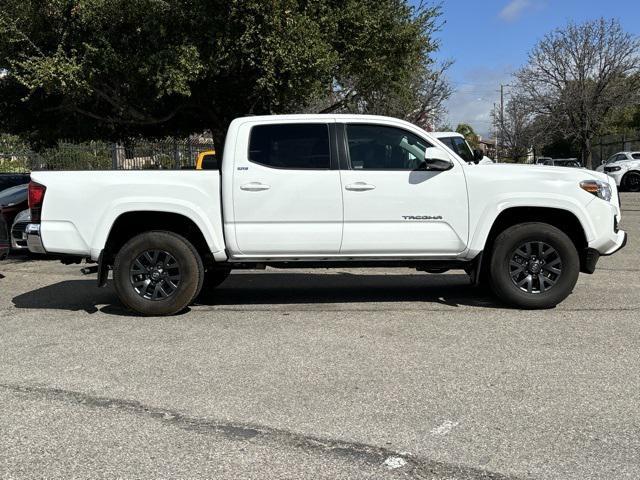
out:
{"label": "rear wheel and tire of the white pickup, below the bed", "polygon": [[146,316],[184,310],[203,280],[200,255],[187,239],[172,232],[150,231],[133,237],[120,249],[113,266],[118,298]]}

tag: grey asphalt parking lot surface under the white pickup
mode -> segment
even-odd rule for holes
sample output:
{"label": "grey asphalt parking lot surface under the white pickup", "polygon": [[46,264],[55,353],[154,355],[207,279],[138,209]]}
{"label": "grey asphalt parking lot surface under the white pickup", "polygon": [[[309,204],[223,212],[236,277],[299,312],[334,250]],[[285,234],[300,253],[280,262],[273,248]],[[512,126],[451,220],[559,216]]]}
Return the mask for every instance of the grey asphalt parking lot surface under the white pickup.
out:
{"label": "grey asphalt parking lot surface under the white pickup", "polygon": [[0,264],[0,476],[640,477],[640,195],[552,310],[466,275],[234,273],[130,315],[78,266]]}

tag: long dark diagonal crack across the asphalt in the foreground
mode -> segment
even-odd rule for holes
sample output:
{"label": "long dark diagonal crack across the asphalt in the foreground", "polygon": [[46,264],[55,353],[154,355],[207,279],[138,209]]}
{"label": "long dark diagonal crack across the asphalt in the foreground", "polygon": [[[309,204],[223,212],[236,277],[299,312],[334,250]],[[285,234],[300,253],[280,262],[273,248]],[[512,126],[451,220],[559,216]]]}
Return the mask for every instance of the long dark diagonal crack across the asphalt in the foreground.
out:
{"label": "long dark diagonal crack across the asphalt in the foreground", "polygon": [[6,383],[0,383],[0,389],[80,407],[113,409],[199,434],[222,435],[225,438],[241,442],[272,443],[329,457],[346,458],[353,462],[378,465],[381,469],[385,468],[385,462],[390,457],[400,458],[406,462],[403,463],[402,471],[408,478],[432,480],[518,480],[520,478],[453,463],[421,459],[407,452],[396,452],[390,448],[366,443],[315,437],[267,426],[192,417],[175,410],[145,405],[136,400],[102,397],[53,387]]}

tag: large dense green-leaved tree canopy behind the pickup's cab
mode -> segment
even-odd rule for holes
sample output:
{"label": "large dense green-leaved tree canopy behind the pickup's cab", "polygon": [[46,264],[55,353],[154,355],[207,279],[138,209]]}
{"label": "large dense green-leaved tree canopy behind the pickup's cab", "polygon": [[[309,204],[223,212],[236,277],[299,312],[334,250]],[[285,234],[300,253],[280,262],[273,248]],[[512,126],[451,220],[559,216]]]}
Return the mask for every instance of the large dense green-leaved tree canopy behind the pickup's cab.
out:
{"label": "large dense green-leaved tree canopy behind the pickup's cab", "polygon": [[443,89],[439,16],[406,0],[4,0],[0,130],[46,143],[209,129],[222,147],[241,115],[426,111]]}

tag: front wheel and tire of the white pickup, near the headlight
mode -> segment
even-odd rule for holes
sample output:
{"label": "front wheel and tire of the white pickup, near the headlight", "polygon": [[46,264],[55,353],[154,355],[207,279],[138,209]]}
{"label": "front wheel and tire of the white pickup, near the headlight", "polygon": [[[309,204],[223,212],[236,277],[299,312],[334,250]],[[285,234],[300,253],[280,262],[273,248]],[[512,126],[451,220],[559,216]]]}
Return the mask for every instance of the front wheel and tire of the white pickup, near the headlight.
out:
{"label": "front wheel and tire of the white pickup, near the headlight", "polygon": [[564,232],[549,224],[514,225],[494,242],[489,264],[491,289],[514,307],[555,307],[571,294],[579,273],[575,245]]}

